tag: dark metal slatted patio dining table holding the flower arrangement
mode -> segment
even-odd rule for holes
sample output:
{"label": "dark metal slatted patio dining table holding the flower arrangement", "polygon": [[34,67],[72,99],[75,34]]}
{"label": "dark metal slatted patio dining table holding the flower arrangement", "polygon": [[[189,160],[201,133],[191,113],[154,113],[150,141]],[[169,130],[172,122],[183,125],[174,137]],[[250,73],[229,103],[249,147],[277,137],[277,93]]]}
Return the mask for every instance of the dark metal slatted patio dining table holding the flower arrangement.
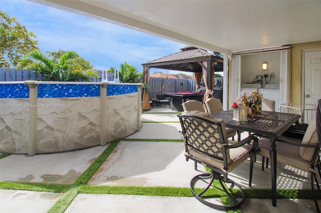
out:
{"label": "dark metal slatted patio dining table holding the flower arrangement", "polygon": [[271,161],[271,189],[272,205],[276,206],[276,144],[275,141],[288,127],[300,118],[298,114],[262,111],[248,121],[237,121],[233,119],[233,109],[212,113],[213,116],[224,120],[226,127],[238,131],[252,132],[258,136],[270,140]]}

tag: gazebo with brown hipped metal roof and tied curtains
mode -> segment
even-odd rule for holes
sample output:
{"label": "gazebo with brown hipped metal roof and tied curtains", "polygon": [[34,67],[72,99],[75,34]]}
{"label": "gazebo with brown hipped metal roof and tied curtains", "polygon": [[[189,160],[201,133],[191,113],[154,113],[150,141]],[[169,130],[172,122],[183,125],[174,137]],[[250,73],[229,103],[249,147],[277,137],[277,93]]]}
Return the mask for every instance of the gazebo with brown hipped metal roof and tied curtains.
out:
{"label": "gazebo with brown hipped metal roof and tied curtains", "polygon": [[[142,63],[144,82],[149,83],[149,69],[161,68],[195,73],[197,89],[200,88],[202,74],[206,91],[203,100],[213,97],[214,72],[223,71],[223,57],[219,52],[207,51],[194,46],[181,48],[182,51],[146,63]],[[150,110],[148,92],[143,90],[142,109]]]}

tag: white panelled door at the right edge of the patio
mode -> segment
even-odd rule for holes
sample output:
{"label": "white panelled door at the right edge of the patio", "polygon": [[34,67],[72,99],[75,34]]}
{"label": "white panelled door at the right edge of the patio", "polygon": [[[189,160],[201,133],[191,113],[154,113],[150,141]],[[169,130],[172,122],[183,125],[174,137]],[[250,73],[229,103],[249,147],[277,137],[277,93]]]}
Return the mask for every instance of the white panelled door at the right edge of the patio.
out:
{"label": "white panelled door at the right edge of the patio", "polygon": [[321,50],[304,51],[304,103],[321,98]]}

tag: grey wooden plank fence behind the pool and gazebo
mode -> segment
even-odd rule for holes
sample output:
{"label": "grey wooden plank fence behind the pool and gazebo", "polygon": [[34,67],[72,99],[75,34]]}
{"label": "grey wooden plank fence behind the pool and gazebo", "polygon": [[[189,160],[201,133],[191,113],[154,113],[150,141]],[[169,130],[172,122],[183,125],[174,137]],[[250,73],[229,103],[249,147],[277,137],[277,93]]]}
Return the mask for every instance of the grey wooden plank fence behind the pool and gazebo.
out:
{"label": "grey wooden plank fence behind the pool and gazebo", "polygon": [[[102,71],[98,70],[100,78],[93,77],[91,81],[100,82],[102,78]],[[113,80],[113,74],[107,73],[107,79]],[[43,80],[43,76],[38,74],[35,70],[30,69],[8,69],[0,68],[0,81],[25,81],[25,80]],[[79,81],[82,81],[81,79]],[[149,98],[156,98],[157,94],[163,94],[168,91],[195,91],[195,79],[177,79],[177,78],[162,78],[150,77],[150,90],[148,92]],[[223,100],[223,77],[215,78],[214,96]]]}

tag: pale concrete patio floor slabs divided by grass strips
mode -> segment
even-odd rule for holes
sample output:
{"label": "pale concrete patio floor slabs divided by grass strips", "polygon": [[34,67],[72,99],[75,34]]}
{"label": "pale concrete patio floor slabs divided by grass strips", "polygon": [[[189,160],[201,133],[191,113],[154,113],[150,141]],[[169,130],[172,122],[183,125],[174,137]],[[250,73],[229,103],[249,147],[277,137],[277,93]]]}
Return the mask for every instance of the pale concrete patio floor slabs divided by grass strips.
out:
{"label": "pale concrete patio floor slabs divided by grass strips", "polygon": [[[160,113],[162,112],[162,113]],[[189,187],[190,179],[205,172],[186,161],[184,143],[145,141],[145,139],[181,139],[176,111],[168,107],[152,108],[142,114],[141,130],[120,141],[91,177],[89,185]],[[177,122],[175,122],[177,121]],[[242,138],[246,137],[246,133]],[[0,159],[0,180],[43,183],[73,183],[107,146],[72,152],[9,155]],[[270,169],[261,170],[260,156],[254,163],[252,188],[271,188]],[[291,174],[296,174],[292,176]],[[229,178],[248,188],[249,160]],[[299,176],[299,177],[298,177]],[[308,188],[309,175],[278,164],[277,188]],[[321,182],[321,180],[319,180]],[[63,193],[0,189],[0,212],[46,212]],[[311,199],[246,199],[243,212],[316,212]],[[200,203],[194,197],[138,196],[79,193],[65,212],[224,212]]]}

